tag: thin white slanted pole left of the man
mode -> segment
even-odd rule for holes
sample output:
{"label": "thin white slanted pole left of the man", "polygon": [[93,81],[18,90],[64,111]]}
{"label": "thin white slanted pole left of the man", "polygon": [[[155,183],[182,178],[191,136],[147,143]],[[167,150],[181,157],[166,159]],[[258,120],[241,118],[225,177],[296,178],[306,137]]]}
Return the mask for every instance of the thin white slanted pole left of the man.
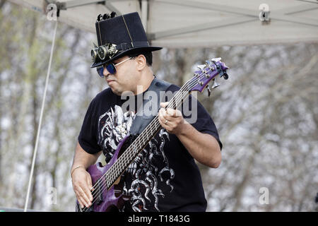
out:
{"label": "thin white slanted pole left of the man", "polygon": [[30,189],[31,189],[31,184],[32,184],[32,177],[33,177],[33,171],[34,171],[34,166],[35,166],[35,159],[36,159],[36,155],[37,155],[37,146],[38,146],[38,143],[39,143],[40,129],[41,129],[41,124],[42,124],[43,110],[44,110],[44,107],[45,107],[45,97],[47,96],[47,85],[49,84],[49,72],[51,70],[55,36],[57,35],[57,23],[58,23],[58,20],[55,20],[55,28],[54,28],[54,33],[53,33],[51,54],[49,55],[49,67],[47,69],[47,78],[45,80],[45,90],[44,90],[44,93],[43,93],[39,125],[37,127],[37,138],[36,138],[36,141],[35,141],[35,148],[33,150],[33,160],[32,160],[31,172],[30,172],[30,178],[29,178],[29,184],[28,184],[28,192],[27,192],[27,196],[25,198],[24,212],[26,212],[27,208],[28,208],[28,201],[29,201]]}

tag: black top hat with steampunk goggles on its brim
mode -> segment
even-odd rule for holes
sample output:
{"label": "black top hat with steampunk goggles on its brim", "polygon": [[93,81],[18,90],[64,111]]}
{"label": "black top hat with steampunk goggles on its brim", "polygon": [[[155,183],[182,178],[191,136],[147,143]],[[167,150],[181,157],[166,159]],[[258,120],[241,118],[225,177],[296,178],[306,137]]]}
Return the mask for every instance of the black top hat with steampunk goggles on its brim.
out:
{"label": "black top hat with steampunk goggles on its brim", "polygon": [[[101,18],[102,17],[102,18]],[[137,12],[121,16],[105,14],[98,16],[95,23],[98,47],[92,49],[94,68],[127,54],[155,51],[162,47],[151,47]]]}

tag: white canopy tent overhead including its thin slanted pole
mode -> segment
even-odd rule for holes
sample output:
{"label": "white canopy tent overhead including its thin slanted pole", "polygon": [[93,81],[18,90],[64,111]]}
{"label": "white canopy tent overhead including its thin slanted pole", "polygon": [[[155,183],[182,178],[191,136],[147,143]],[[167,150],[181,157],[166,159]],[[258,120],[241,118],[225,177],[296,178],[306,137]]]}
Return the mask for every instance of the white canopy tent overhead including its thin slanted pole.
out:
{"label": "white canopy tent overhead including its thin slanted pole", "polygon": [[[8,1],[45,13],[49,20],[52,20],[54,13],[57,13],[59,21],[94,33],[95,20],[99,14],[115,11],[117,15],[121,15],[137,11],[141,16],[148,40],[154,46],[160,47],[213,47],[318,41],[316,0]],[[48,12],[47,8],[52,6],[53,10]],[[57,23],[52,40],[24,211],[28,207],[56,31]]]}

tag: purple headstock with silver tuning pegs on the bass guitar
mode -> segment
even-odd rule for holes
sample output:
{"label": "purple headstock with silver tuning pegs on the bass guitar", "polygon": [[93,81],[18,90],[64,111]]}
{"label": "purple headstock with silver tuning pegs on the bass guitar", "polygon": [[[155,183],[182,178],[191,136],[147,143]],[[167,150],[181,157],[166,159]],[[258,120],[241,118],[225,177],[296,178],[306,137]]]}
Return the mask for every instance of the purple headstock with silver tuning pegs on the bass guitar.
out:
{"label": "purple headstock with silver tuning pegs on the bass guitar", "polygon": [[220,84],[216,82],[216,76],[220,78],[228,79],[228,66],[226,66],[220,58],[213,58],[206,61],[206,64],[199,65],[199,70],[194,71],[194,77],[189,82],[189,92],[199,91],[203,92],[205,88],[208,89],[208,95],[211,94],[211,90],[208,88],[208,83],[213,81],[212,88],[218,87]]}

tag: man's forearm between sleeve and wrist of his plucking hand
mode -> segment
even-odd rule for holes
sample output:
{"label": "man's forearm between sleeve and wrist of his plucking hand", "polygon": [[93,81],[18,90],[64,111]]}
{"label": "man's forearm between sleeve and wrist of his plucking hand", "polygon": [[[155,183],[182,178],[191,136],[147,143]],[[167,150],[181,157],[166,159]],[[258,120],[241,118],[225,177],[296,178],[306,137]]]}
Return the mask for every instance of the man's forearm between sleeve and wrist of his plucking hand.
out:
{"label": "man's forearm between sleeve and wrist of his plucking hand", "polygon": [[90,167],[90,165],[93,165],[96,160],[98,160],[100,153],[101,152],[94,155],[89,154],[85,150],[83,150],[83,148],[81,148],[81,145],[79,143],[77,143],[71,172],[73,172],[73,169],[75,169],[76,167],[83,167],[87,169],[88,167]]}

